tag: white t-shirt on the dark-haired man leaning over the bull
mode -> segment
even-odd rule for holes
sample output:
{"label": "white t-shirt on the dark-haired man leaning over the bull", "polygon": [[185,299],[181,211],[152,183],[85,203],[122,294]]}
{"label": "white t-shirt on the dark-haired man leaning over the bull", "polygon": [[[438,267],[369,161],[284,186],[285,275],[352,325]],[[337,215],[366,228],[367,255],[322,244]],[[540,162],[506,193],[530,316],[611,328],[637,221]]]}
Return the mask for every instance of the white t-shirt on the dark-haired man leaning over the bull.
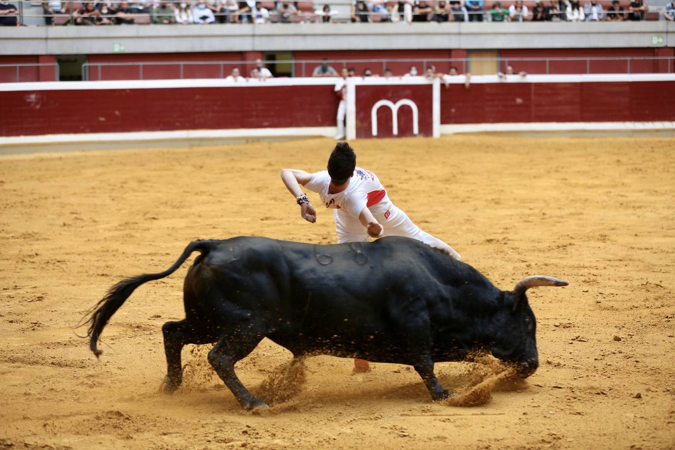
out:
{"label": "white t-shirt on the dark-haired man leaning over the bull", "polygon": [[327,170],[315,172],[312,179],[304,185],[312,192],[317,192],[326,208],[338,209],[358,220],[365,207],[375,206],[381,202],[389,204],[387,192],[375,173],[356,167],[349,180],[349,186],[337,194],[329,194],[331,176]]}

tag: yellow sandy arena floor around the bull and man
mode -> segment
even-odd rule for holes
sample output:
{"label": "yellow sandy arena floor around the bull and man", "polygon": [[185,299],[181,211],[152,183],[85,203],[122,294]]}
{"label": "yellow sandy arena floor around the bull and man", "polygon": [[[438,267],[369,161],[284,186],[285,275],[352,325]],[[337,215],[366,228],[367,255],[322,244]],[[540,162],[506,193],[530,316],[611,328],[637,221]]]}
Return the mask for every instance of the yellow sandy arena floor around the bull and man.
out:
{"label": "yellow sandy arena floor around the bull and man", "polygon": [[[321,356],[296,397],[247,414],[205,346],[184,349],[186,382],[161,395],[161,325],[183,317],[188,263],[117,312],[100,362],[74,335],[113,283],[167,269],[196,238],[335,242],[331,214],[302,221],[279,179],[322,169],[331,146],[0,157],[0,449],[675,448],[672,138],[354,142],[391,199],[497,286],[570,281],[529,291],[541,366],[481,406],[431,403],[406,366],[353,375]],[[289,356],[263,341],[238,374],[255,391]],[[471,371],[437,365],[450,389]]]}

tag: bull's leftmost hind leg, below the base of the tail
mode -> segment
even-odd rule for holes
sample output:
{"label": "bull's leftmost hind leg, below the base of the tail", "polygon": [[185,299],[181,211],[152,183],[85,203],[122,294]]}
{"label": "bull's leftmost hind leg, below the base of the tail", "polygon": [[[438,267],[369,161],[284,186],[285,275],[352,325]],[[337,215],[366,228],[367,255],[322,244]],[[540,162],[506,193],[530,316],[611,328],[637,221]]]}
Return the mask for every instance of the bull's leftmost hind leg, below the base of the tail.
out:
{"label": "bull's leftmost hind leg, below the base of the tail", "polygon": [[166,322],[162,326],[164,335],[164,351],[167,356],[167,375],[164,378],[160,391],[172,393],[183,382],[183,366],[180,360],[180,352],[186,344],[205,344],[213,342],[213,339],[194,333],[188,320],[178,322]]}

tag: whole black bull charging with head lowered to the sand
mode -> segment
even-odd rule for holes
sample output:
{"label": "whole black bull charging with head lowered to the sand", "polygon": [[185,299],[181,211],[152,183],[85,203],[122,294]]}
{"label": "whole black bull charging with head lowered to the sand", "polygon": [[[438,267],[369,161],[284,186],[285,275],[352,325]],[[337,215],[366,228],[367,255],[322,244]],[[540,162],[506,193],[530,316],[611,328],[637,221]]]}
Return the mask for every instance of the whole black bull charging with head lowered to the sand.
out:
{"label": "whole black bull charging with head lowered to the sand", "polygon": [[267,405],[242,385],[234,364],[264,337],[295,357],[410,364],[433,399],[448,397],[434,362],[462,360],[474,349],[529,376],[539,358],[525,291],[567,285],[537,276],[501,291],[472,266],[407,237],[326,246],[264,237],[195,241],[167,271],[120,281],[94,306],[87,335],[96,356],[103,327],[134,289],[171,275],[195,250],[201,254],[184,282],[186,318],[162,327],[162,389],[180,386],[184,345],[215,342],[209,362],[247,410]]}

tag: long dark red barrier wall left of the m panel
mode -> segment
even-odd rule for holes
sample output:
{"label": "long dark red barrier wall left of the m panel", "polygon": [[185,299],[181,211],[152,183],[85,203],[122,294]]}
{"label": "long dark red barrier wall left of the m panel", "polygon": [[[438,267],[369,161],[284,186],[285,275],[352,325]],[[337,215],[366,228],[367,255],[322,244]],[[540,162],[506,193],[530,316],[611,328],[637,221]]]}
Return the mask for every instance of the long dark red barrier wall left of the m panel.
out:
{"label": "long dark red barrier wall left of the m panel", "polygon": [[0,136],[335,126],[333,86],[0,92]]}

